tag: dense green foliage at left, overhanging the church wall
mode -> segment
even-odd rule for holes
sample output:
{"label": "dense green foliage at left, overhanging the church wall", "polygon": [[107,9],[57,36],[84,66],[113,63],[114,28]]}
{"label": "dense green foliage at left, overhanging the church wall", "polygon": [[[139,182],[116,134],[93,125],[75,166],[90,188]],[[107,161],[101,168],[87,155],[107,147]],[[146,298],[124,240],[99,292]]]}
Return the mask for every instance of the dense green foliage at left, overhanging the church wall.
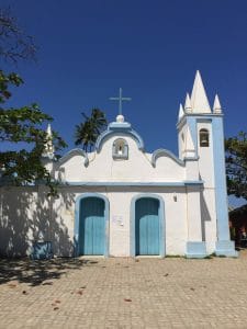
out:
{"label": "dense green foliage at left, overhanging the church wall", "polygon": [[[21,83],[23,81],[16,73],[5,75],[0,70],[0,140],[29,145],[19,150],[0,152],[2,178],[16,185],[43,180],[49,186],[50,193],[55,194],[56,183],[42,163],[42,155],[48,141],[42,125],[53,118],[43,113],[37,104],[20,109],[3,109],[1,105],[11,97],[10,87]],[[57,133],[53,133],[53,143],[56,151],[66,146]]]}

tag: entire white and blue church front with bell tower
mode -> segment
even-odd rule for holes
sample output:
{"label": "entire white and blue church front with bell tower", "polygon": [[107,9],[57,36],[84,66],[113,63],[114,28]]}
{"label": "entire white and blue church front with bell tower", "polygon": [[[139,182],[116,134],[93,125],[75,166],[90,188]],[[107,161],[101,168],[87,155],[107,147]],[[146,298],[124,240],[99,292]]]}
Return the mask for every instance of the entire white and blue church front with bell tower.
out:
{"label": "entire white and blue church front with bell tower", "polygon": [[[44,185],[0,189],[0,254],[24,256],[48,241],[56,256],[236,257],[229,240],[223,113],[211,110],[200,72],[178,117],[179,157],[145,151],[143,138],[117,115],[86,154],[72,149],[46,168]],[[48,131],[47,134],[50,134]],[[52,141],[50,141],[52,143]]]}

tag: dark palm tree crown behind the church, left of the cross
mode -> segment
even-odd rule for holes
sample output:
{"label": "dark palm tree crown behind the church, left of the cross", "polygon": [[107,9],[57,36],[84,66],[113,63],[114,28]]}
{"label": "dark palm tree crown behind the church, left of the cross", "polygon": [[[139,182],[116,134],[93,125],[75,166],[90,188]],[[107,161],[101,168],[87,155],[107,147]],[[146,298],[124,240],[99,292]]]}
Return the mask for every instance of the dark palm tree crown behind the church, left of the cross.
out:
{"label": "dark palm tree crown behind the church, left of the cross", "polygon": [[81,113],[83,122],[76,125],[76,145],[82,145],[85,151],[91,151],[96,145],[98,136],[106,127],[105,114],[99,109],[92,109],[91,116]]}

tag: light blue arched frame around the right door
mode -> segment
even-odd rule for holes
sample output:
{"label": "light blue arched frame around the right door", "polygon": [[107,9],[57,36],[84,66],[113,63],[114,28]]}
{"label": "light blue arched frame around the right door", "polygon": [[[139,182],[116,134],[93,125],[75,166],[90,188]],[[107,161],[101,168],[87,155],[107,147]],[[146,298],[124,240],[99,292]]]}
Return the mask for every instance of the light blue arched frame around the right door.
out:
{"label": "light blue arched frame around the right door", "polygon": [[161,196],[157,194],[151,194],[151,193],[143,193],[143,194],[137,194],[132,197],[131,202],[131,257],[136,256],[135,251],[135,203],[137,200],[143,198],[143,197],[151,197],[156,198],[159,201],[159,231],[160,231],[160,237],[159,237],[159,256],[165,257],[166,254],[166,228],[165,228],[165,204],[164,200]]}

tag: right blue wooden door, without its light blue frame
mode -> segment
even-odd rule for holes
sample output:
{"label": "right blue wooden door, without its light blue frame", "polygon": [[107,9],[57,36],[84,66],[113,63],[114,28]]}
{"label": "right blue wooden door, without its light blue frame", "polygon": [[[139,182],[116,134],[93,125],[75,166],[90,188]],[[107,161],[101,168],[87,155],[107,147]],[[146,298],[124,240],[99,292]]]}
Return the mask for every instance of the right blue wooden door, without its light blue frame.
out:
{"label": "right blue wooden door, without its light blue frame", "polygon": [[135,204],[136,254],[159,254],[159,201],[143,197]]}

